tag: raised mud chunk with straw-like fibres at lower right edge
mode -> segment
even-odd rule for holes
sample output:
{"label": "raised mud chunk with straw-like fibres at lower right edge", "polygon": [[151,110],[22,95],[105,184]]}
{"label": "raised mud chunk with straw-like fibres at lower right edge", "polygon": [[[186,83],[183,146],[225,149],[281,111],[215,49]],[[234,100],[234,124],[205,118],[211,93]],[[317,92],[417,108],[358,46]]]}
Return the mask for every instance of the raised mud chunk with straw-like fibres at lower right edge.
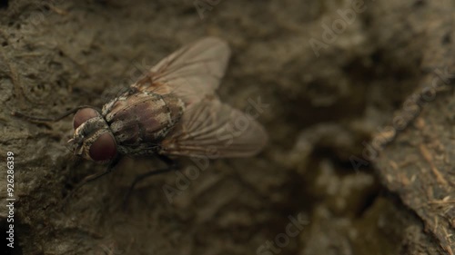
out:
{"label": "raised mud chunk with straw-like fibres at lower right edge", "polygon": [[[455,76],[454,76],[455,77]],[[422,219],[439,250],[455,252],[455,133],[453,87],[424,107],[406,131],[399,133],[378,161],[379,173],[390,191]],[[415,253],[430,253],[421,247]]]}

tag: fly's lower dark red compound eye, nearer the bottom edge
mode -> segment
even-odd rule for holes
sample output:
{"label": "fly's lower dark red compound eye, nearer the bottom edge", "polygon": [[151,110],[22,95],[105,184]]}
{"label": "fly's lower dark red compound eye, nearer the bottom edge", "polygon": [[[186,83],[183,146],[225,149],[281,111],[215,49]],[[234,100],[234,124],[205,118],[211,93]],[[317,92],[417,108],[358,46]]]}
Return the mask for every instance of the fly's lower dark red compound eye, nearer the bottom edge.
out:
{"label": "fly's lower dark red compound eye, nearer the bottom edge", "polygon": [[110,160],[116,156],[116,142],[109,133],[101,134],[90,146],[90,158],[96,162]]}

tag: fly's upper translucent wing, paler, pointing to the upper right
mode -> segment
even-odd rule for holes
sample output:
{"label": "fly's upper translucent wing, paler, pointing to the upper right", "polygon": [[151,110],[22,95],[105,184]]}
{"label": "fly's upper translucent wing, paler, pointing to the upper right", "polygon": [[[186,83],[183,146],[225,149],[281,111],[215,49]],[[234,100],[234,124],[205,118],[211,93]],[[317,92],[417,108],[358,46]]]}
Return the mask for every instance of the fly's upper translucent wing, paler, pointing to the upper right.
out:
{"label": "fly's upper translucent wing, paler, pointing to the upper right", "polygon": [[207,37],[170,54],[132,86],[140,91],[174,93],[187,105],[197,103],[217,90],[229,54],[226,42]]}

